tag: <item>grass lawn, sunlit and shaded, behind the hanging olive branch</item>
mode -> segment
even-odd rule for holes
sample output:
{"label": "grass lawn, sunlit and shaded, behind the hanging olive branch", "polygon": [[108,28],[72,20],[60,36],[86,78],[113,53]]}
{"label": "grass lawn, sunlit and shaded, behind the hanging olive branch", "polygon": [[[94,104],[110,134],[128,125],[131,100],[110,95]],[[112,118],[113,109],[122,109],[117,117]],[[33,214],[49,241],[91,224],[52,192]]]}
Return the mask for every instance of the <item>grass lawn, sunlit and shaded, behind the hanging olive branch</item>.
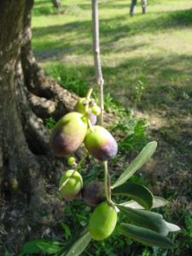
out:
{"label": "grass lawn, sunlit and shaded, behind the hanging olive branch", "polygon": [[[147,119],[149,136],[159,148],[143,172],[156,193],[174,198],[172,215],[184,223],[184,213],[192,207],[192,1],[149,0],[147,15],[137,3],[133,17],[131,1],[99,2],[105,94]],[[32,47],[38,62],[80,96],[95,72],[90,3],[63,0],[64,12],[59,14],[50,0],[37,0],[32,16]],[[174,207],[182,207],[183,216],[174,215]],[[190,225],[192,230],[192,221]],[[180,247],[184,250],[184,242]],[[191,243],[190,247],[192,251]],[[187,254],[177,249],[172,254],[141,255]]]}

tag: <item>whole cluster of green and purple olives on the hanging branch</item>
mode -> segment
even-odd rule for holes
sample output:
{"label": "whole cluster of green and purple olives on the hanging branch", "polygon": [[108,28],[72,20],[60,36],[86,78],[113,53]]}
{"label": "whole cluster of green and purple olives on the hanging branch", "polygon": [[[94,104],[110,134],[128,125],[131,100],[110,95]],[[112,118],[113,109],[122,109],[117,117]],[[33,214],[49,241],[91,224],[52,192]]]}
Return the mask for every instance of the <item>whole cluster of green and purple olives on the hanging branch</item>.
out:
{"label": "whole cluster of green and purple olives on the hanging branch", "polygon": [[[96,116],[101,108],[94,99],[79,99],[75,111],[64,115],[55,125],[50,137],[50,147],[58,157],[73,154],[82,143],[96,160],[110,160],[118,151],[118,145],[101,125],[96,125]],[[70,158],[69,164],[75,160]],[[103,183],[92,181],[83,187],[83,178],[76,170],[64,172],[59,182],[60,192],[66,201],[81,195],[84,203],[96,207],[89,221],[90,235],[102,240],[111,235],[117,222],[117,212],[108,204]]]}

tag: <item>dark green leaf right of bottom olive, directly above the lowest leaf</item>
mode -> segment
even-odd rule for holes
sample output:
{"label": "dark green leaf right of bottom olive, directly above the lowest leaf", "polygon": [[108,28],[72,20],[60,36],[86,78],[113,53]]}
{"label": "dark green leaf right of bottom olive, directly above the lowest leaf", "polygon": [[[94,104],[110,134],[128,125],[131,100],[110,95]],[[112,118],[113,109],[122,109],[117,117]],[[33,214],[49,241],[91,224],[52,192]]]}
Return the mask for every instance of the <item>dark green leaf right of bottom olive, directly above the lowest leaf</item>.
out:
{"label": "dark green leaf right of bottom olive, directly above the lowest leaf", "polygon": [[149,230],[154,230],[163,236],[167,236],[169,229],[166,226],[166,221],[159,213],[137,210],[119,205],[117,205],[117,207],[132,224],[136,224],[137,226]]}

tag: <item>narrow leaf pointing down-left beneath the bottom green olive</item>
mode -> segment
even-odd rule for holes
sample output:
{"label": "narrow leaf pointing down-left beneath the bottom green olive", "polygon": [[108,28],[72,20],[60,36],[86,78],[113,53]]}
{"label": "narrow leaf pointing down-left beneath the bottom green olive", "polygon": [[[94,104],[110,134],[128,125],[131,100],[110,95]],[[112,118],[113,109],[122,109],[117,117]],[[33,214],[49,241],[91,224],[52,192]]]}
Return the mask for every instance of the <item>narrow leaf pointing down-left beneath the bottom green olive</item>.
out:
{"label": "narrow leaf pointing down-left beneath the bottom green olive", "polygon": [[75,236],[69,241],[67,246],[64,247],[61,256],[79,256],[84,252],[84,249],[88,246],[90,240],[90,232],[87,229],[84,229],[78,236]]}

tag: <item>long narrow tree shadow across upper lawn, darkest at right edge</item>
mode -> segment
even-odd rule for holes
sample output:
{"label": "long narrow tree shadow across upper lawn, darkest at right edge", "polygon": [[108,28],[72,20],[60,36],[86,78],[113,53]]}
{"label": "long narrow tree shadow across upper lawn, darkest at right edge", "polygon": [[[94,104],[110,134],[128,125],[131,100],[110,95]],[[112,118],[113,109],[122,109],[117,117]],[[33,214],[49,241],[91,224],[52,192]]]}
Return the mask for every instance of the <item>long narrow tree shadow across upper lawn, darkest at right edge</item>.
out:
{"label": "long narrow tree shadow across upper lawn, darkest at right edge", "polygon": [[[162,29],[170,29],[176,26],[192,26],[192,9],[182,11],[166,12],[162,15],[143,16],[143,20],[132,21],[120,15],[113,19],[101,19],[100,30],[104,36],[106,33],[115,35],[117,32],[136,35],[138,32],[158,32]],[[74,21],[64,25],[37,27],[33,29],[35,36],[44,36],[48,32],[61,33],[71,30],[78,31],[79,34],[85,30],[91,30],[90,21]]]}

